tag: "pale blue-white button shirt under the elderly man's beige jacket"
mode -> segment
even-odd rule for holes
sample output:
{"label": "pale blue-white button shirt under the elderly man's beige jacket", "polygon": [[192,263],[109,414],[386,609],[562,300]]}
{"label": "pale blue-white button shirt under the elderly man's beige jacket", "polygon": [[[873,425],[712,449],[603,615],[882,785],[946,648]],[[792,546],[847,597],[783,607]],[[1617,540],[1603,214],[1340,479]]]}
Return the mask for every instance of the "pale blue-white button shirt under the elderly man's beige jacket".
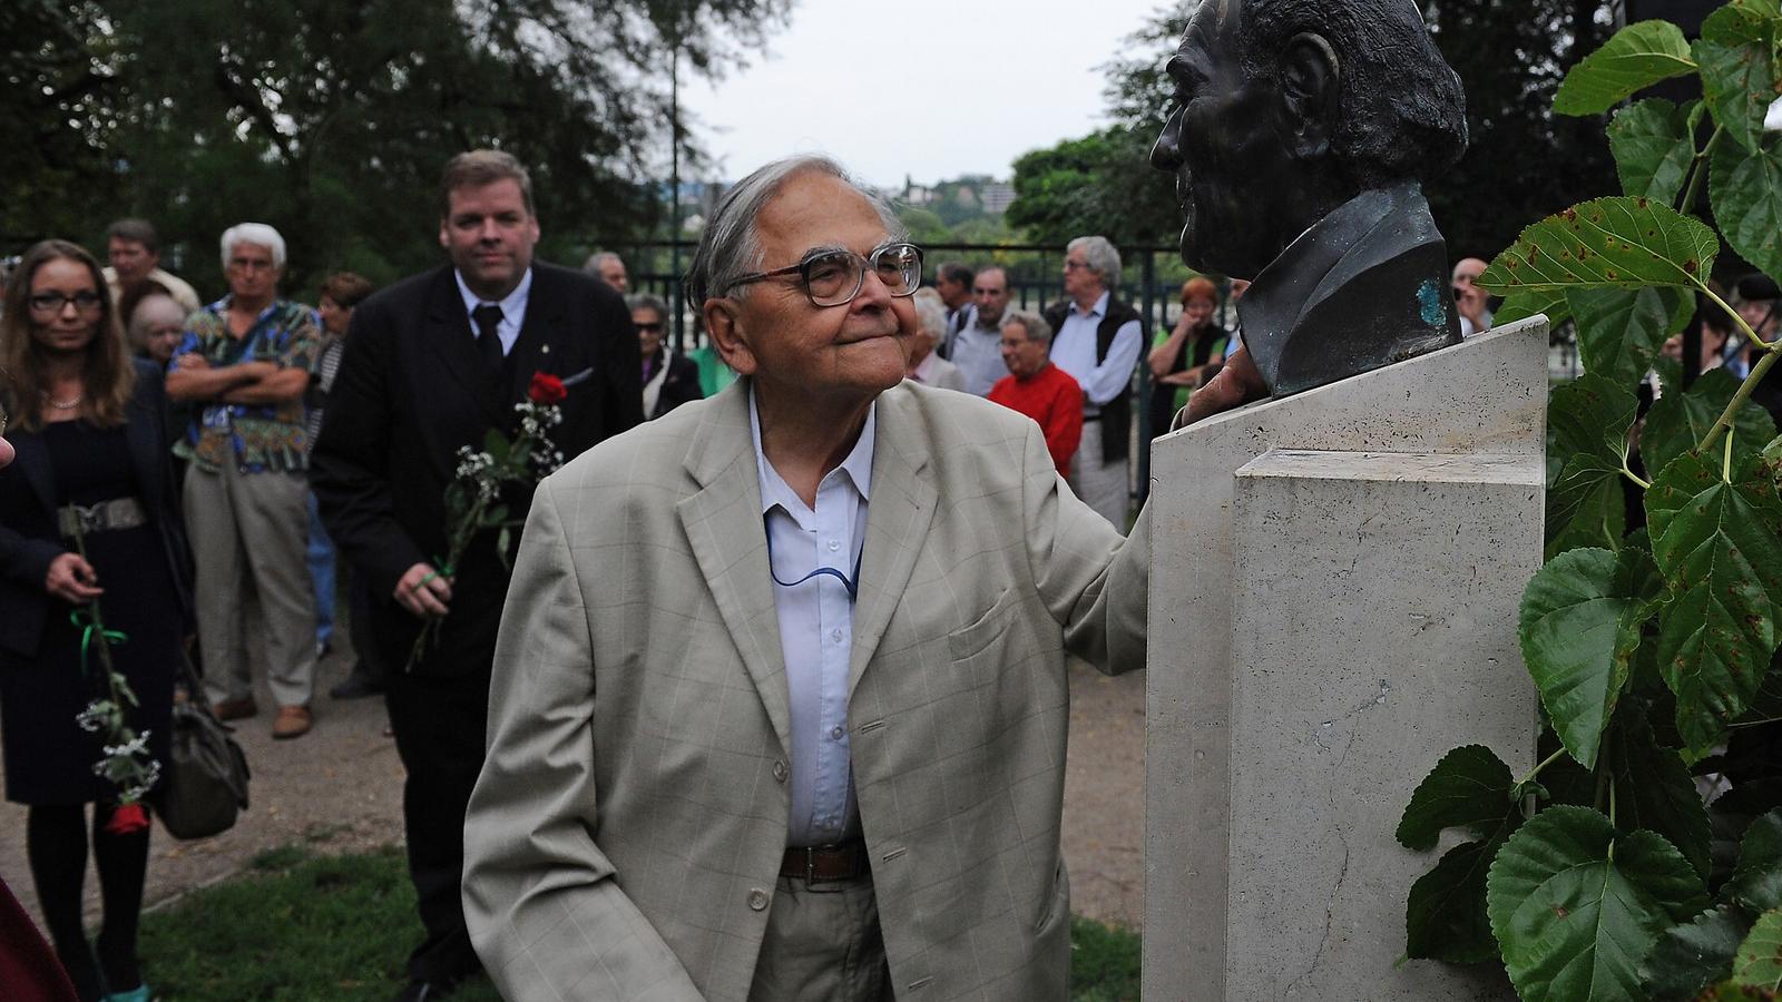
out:
{"label": "pale blue-white button shirt under the elderly man's beige jacket", "polygon": [[854,599],[832,574],[797,585],[818,567],[832,567],[859,587],[866,544],[866,497],[873,480],[879,405],[854,451],[816,487],[816,508],[786,485],[761,451],[761,414],[748,392],[748,431],[756,442],[761,512],[772,551],[773,612],[786,660],[791,708],[791,813],[786,845],[830,845],[859,833],[854,765],[848,752],[848,654],[854,651]]}

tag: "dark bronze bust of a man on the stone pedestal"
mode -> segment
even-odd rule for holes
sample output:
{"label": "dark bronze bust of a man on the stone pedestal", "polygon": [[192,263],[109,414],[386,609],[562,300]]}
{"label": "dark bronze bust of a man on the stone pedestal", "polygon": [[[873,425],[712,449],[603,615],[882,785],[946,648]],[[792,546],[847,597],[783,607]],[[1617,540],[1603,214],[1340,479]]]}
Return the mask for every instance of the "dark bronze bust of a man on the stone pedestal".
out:
{"label": "dark bronze bust of a man on the stone pedestal", "polygon": [[1178,424],[1459,342],[1422,180],[1465,98],[1411,0],[1205,0],[1167,73],[1181,259],[1253,280],[1244,351]]}

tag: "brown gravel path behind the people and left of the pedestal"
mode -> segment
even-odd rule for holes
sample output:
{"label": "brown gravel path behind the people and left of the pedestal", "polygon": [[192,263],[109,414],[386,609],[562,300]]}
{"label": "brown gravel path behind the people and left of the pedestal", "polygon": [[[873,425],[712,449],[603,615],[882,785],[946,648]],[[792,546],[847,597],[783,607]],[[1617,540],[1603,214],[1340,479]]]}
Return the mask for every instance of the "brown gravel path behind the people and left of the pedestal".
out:
{"label": "brown gravel path behind the people and left of the pedestal", "polygon": [[[260,715],[239,720],[253,770],[253,806],[233,829],[198,842],[175,842],[155,827],[148,865],[148,908],[225,881],[248,859],[287,843],[317,852],[358,852],[403,840],[403,763],[383,736],[380,699],[333,701],[351,654],[335,651],[317,681],[315,729],[273,742],[271,695]],[[264,674],[260,676],[264,678]],[[1064,797],[1064,854],[1073,909],[1139,927],[1144,838],[1144,674],[1107,678],[1071,667],[1071,749]],[[0,804],[0,877],[37,916],[25,861],[25,808]],[[87,913],[96,916],[98,881],[87,879]],[[39,916],[41,918],[41,916]]]}

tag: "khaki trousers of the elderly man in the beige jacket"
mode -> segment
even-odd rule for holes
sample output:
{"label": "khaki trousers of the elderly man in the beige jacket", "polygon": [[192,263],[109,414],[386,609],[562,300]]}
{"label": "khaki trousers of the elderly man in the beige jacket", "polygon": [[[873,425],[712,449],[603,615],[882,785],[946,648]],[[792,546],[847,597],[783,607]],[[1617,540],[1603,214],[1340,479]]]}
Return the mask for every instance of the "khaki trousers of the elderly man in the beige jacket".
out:
{"label": "khaki trousers of the elderly man in the beige jacket", "polygon": [[781,877],[748,1002],[891,1002],[873,879]]}

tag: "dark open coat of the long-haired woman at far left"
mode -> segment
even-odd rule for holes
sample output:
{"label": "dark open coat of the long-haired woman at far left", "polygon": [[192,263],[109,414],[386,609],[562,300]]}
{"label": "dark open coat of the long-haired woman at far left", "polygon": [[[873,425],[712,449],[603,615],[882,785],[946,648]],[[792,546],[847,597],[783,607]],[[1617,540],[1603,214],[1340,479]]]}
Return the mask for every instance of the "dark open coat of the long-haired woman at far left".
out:
{"label": "dark open coat of the long-haired woman at far left", "polygon": [[[185,542],[180,485],[173,474],[168,437],[168,392],[160,367],[141,358],[135,390],[125,408],[130,464],[150,524],[160,531],[182,617],[191,624],[192,556]],[[0,651],[20,658],[37,654],[50,595],[43,590],[50,562],[71,553],[55,522],[55,472],[43,437],[21,428],[7,431],[18,458],[0,469]]]}

